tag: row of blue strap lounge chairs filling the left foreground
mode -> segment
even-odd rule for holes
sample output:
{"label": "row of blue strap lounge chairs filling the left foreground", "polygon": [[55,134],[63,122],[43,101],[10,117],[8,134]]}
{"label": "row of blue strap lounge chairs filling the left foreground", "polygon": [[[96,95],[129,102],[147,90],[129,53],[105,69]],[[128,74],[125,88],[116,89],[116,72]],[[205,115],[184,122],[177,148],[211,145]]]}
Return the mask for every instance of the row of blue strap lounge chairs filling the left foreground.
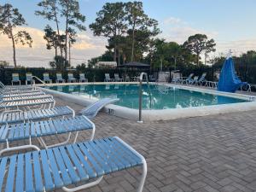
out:
{"label": "row of blue strap lounge chairs filling the left foreground", "polygon": [[[75,114],[67,106],[55,107],[53,96],[37,87],[1,82],[0,87],[1,191],[77,191],[100,183],[104,175],[135,166],[143,166],[137,189],[143,191],[147,174],[143,156],[119,137],[94,139],[96,126],[91,120],[116,99],[102,99]],[[77,143],[79,131],[91,131],[90,141]],[[67,134],[65,142],[45,141],[60,134]],[[28,148],[32,151],[20,151]]]}

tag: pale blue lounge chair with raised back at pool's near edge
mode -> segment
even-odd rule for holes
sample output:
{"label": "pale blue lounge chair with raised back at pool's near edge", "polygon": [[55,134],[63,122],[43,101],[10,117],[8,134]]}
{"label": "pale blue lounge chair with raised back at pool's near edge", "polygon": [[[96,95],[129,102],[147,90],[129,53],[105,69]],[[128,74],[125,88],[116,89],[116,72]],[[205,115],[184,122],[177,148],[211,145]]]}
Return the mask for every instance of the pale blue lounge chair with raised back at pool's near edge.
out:
{"label": "pale blue lounge chair with raised back at pool's near edge", "polygon": [[104,108],[106,105],[113,103],[113,102],[118,102],[119,99],[112,99],[112,98],[104,98],[101,99],[95,103],[92,103],[90,106],[88,106],[87,108],[84,108],[80,114],[85,115],[87,118],[89,119],[93,119],[96,114],[102,109]]}

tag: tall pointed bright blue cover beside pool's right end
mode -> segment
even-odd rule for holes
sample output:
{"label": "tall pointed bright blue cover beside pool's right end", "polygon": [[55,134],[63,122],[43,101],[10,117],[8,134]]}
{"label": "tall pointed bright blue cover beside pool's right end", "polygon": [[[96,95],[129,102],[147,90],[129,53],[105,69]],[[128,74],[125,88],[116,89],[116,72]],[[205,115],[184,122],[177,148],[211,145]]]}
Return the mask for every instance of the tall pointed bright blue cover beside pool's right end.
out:
{"label": "tall pointed bright blue cover beside pool's right end", "polygon": [[231,57],[228,57],[225,60],[224,66],[222,67],[219,75],[218,90],[234,93],[239,89],[241,84],[246,83],[241,82],[237,77],[234,62]]}

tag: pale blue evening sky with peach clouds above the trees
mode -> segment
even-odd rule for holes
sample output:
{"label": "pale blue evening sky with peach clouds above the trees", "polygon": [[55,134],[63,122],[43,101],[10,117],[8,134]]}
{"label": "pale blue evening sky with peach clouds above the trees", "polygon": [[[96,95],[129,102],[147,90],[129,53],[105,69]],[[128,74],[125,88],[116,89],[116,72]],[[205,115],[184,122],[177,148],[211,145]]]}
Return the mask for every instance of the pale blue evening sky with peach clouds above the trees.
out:
{"label": "pale blue evening sky with peach clouds above the trees", "polygon": [[[49,67],[54,50],[48,50],[44,40],[44,26],[53,23],[34,15],[39,0],[0,0],[0,4],[11,3],[26,19],[27,26],[16,30],[26,30],[33,39],[32,48],[17,45],[18,64],[25,67]],[[86,16],[86,32],[79,32],[78,41],[72,49],[72,65],[102,55],[107,39],[94,37],[89,25],[96,19],[96,12],[113,0],[79,0],[80,11]],[[127,2],[127,1],[123,1]],[[218,56],[232,49],[240,55],[249,49],[256,49],[256,1],[255,0],[143,0],[145,13],[159,21],[159,38],[178,44],[195,33],[207,34],[217,44]],[[64,26],[61,24],[61,27]],[[12,44],[9,38],[0,35],[0,61],[13,64]]]}

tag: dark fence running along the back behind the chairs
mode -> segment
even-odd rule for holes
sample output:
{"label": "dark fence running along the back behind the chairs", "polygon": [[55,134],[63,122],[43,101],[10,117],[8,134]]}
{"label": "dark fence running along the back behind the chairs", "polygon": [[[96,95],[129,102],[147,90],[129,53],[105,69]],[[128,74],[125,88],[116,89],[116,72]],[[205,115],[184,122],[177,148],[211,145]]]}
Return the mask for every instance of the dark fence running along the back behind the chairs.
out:
{"label": "dark fence running along the back behind the chairs", "polygon": [[[184,77],[189,76],[190,73],[201,76],[202,73],[207,73],[207,80],[217,80],[214,76],[215,73],[220,72],[222,65],[215,66],[195,66],[195,65],[180,65],[177,70],[183,74]],[[165,68],[164,71],[172,71],[174,68]],[[84,73],[85,78],[90,82],[102,82],[105,78],[105,73],[109,73],[113,77],[114,73],[119,73],[121,76],[125,76],[125,73],[130,76],[137,76],[138,73],[146,72],[148,74],[154,75],[159,71],[158,68],[154,69],[132,69],[132,68],[79,68],[78,70],[66,70],[62,71],[62,76],[67,79],[67,73],[73,73],[74,78],[79,79],[79,73]],[[19,73],[21,83],[24,84],[26,79],[26,73],[32,73],[32,75],[37,76],[39,79],[43,79],[44,73],[49,73],[49,78],[55,81],[55,74],[60,71],[55,69],[45,69],[45,68],[0,68],[0,80],[3,84],[10,84],[12,79],[12,73]],[[242,81],[247,81],[251,84],[256,84],[256,65],[255,66],[245,66],[236,65],[236,72]]]}

